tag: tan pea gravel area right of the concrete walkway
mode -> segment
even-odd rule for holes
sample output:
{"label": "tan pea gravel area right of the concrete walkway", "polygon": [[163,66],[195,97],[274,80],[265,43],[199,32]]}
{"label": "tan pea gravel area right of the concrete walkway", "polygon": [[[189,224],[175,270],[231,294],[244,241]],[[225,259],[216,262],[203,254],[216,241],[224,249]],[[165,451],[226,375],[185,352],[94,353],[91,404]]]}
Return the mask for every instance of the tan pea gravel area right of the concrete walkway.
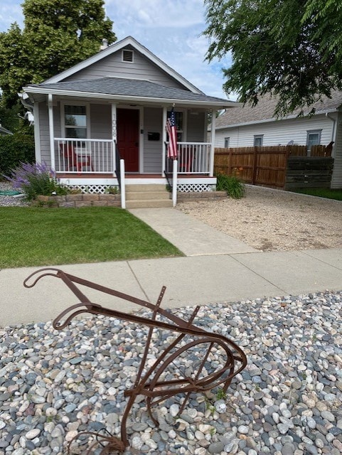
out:
{"label": "tan pea gravel area right of the concrete walkway", "polygon": [[342,202],[247,186],[245,198],[186,202],[179,210],[257,250],[342,247]]}

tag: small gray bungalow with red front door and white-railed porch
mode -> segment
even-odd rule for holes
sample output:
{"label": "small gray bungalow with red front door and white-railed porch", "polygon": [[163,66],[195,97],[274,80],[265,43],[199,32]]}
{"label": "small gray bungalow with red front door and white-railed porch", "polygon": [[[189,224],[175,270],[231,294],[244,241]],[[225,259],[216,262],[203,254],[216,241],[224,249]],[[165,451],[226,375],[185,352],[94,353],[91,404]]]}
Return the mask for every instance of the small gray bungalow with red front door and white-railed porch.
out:
{"label": "small gray bungalow with red front door and white-railed porch", "polygon": [[171,176],[166,122],[176,113],[178,191],[210,191],[214,137],[208,112],[234,102],[205,95],[128,36],[38,85],[23,87],[34,117],[36,160],[66,185],[163,184]]}

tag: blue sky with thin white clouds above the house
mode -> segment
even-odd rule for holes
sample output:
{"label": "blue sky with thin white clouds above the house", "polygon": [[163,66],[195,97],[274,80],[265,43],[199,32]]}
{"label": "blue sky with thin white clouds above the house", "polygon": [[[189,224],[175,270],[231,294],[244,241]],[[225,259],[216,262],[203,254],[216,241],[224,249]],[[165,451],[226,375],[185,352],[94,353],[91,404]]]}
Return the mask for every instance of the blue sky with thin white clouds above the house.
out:
{"label": "blue sky with thin white clouds above the house", "polygon": [[[22,1],[0,1],[0,31],[14,21],[22,28]],[[105,9],[118,39],[133,36],[205,94],[226,98],[221,68],[230,65],[229,58],[204,62],[208,39],[201,36],[203,0],[105,0]]]}

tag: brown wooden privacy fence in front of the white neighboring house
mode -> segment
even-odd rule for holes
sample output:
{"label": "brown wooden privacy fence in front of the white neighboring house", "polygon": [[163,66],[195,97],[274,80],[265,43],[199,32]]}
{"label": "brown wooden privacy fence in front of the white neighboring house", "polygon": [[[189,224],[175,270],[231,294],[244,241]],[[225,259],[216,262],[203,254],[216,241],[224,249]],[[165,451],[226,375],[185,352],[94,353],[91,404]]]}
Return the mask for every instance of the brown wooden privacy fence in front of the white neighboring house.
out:
{"label": "brown wooden privacy fence in front of the white neighboring house", "polygon": [[305,145],[231,147],[215,149],[214,171],[228,176],[235,174],[252,185],[285,188],[289,157],[330,156],[331,148],[318,145],[311,147],[311,156],[306,156]]}

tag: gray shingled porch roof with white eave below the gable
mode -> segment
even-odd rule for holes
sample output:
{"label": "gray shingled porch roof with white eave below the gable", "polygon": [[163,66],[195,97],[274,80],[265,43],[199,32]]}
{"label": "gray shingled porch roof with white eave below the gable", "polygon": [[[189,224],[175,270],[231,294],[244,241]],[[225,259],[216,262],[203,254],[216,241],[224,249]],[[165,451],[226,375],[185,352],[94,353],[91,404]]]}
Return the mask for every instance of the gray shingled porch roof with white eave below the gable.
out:
{"label": "gray shingled porch roof with white eave below the gable", "polygon": [[166,87],[156,82],[141,79],[126,79],[120,77],[101,77],[94,80],[78,80],[72,82],[42,83],[24,87],[30,94],[51,94],[63,96],[78,96],[91,98],[107,98],[112,100],[127,100],[134,102],[159,102],[172,104],[178,102],[183,105],[198,105],[223,109],[235,107],[239,103],[223,100],[181,90],[175,87]]}

